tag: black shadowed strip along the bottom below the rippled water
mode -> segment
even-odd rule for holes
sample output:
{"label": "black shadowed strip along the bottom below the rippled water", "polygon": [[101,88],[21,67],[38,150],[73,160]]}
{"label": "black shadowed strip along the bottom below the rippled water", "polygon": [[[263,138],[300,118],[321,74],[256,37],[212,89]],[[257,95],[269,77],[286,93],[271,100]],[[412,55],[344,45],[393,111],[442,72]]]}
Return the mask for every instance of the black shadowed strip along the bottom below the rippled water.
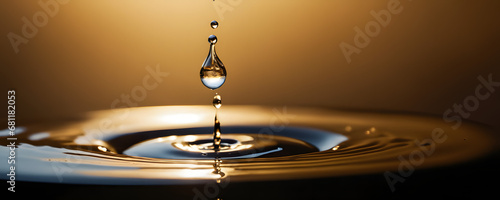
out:
{"label": "black shadowed strip along the bottom below the rippled water", "polygon": [[[391,192],[384,175],[369,174],[334,178],[229,183],[217,192],[233,199],[415,199],[474,198],[497,195],[500,153],[473,162],[414,171]],[[4,191],[8,192],[7,184]],[[212,184],[212,186],[214,186]],[[16,182],[16,193],[50,199],[216,199],[196,198],[207,184],[180,186],[108,186]],[[220,188],[219,188],[220,189]],[[215,193],[213,190],[209,192]]]}

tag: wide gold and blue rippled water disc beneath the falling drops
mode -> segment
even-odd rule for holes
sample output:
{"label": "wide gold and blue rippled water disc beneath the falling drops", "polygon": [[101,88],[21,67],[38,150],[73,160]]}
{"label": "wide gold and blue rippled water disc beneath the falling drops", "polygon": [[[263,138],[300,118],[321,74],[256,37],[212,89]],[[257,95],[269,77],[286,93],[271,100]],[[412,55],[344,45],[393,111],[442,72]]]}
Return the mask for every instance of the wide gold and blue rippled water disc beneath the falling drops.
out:
{"label": "wide gold and blue rippled water disc beneath the falling drops", "polygon": [[[319,178],[397,171],[402,162],[415,169],[451,165],[496,145],[483,127],[453,130],[440,118],[226,106],[215,154],[212,115],[208,106],[144,107],[18,127],[16,178],[113,185],[189,184],[220,174],[231,181]],[[7,144],[0,153],[8,155]]]}

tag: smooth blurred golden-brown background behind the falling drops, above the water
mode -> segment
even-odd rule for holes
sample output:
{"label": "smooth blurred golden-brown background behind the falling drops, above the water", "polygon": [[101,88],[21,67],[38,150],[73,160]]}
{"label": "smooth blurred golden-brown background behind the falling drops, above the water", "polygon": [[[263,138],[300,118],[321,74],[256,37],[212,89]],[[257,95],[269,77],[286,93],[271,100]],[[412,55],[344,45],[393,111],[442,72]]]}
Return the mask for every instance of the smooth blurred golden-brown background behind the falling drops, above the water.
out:
{"label": "smooth blurred golden-brown background behind the falling drops, above the water", "polygon": [[[199,70],[214,34],[228,73],[217,90],[224,105],[442,116],[475,95],[478,76],[500,82],[498,8],[487,0],[4,1],[0,90],[16,90],[18,123],[209,105],[215,92]],[[481,90],[491,95],[468,119],[500,127],[496,89]]]}

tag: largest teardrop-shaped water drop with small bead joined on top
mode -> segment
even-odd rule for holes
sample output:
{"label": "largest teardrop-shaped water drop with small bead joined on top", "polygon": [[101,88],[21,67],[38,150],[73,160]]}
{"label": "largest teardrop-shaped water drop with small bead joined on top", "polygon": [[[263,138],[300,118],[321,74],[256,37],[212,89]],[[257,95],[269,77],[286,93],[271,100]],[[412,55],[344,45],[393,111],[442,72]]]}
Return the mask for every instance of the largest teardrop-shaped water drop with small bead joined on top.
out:
{"label": "largest teardrop-shaped water drop with small bead joined on top", "polygon": [[[209,37],[209,41],[211,36]],[[214,38],[215,42],[211,42],[210,52],[208,53],[208,56],[203,62],[200,70],[201,82],[211,90],[221,87],[224,82],[226,82],[226,68],[215,52],[217,37],[214,36]]]}

